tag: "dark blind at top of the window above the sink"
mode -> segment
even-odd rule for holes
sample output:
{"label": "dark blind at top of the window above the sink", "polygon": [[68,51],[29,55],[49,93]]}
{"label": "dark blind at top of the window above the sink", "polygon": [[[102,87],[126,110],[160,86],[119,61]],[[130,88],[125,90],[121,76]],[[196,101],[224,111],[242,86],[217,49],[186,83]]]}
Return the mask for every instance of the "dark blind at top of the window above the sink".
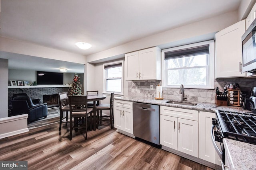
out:
{"label": "dark blind at top of the window above the sink", "polygon": [[202,45],[189,49],[180,49],[175,51],[167,51],[164,53],[164,60],[177,59],[181,57],[188,57],[193,55],[209,54],[209,45]]}

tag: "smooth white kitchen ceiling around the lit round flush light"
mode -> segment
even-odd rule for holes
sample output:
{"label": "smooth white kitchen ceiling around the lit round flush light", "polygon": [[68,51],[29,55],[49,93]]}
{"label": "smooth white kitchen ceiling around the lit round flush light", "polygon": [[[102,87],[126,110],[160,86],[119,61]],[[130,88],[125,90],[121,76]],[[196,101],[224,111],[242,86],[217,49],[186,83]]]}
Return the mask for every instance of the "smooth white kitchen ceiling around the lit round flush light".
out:
{"label": "smooth white kitchen ceiling around the lit round flush light", "polygon": [[[1,0],[0,36],[82,55],[237,10],[241,0]],[[78,41],[92,44],[88,50]],[[47,63],[45,63],[47,64]]]}

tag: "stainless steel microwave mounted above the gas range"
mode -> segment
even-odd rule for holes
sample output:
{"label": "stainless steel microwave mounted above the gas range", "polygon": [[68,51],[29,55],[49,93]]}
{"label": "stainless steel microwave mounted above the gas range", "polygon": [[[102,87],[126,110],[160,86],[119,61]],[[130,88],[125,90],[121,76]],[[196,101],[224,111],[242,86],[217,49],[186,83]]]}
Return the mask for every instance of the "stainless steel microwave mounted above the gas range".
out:
{"label": "stainless steel microwave mounted above the gas range", "polygon": [[256,19],[242,36],[243,68],[242,72],[256,72]]}

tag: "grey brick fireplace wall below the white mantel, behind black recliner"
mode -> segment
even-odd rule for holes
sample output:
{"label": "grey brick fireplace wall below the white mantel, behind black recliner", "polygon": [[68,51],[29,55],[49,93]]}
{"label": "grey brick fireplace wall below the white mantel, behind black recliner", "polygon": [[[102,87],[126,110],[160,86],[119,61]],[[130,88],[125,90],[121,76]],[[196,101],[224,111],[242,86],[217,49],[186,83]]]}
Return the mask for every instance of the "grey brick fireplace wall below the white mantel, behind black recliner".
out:
{"label": "grey brick fireplace wall below the white mantel, behind black recliner", "polygon": [[[24,87],[24,86],[23,86]],[[55,107],[58,106],[58,93],[61,92],[68,92],[69,87],[46,87],[46,88],[8,88],[8,106],[11,105],[11,99],[14,94],[17,93],[26,93],[31,99],[39,99],[42,103],[44,103],[44,97],[46,95],[53,95],[54,98],[48,98],[51,100],[47,104],[48,107]],[[57,104],[56,104],[56,97],[57,97]],[[52,106],[55,103],[55,106]]]}

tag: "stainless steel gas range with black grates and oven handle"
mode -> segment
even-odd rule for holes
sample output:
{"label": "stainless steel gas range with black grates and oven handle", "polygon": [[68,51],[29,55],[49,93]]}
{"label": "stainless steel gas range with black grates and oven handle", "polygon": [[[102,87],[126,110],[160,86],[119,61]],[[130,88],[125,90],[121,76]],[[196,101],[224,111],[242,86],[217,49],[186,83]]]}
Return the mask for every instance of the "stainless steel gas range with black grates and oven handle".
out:
{"label": "stainless steel gas range with black grates and oven handle", "polygon": [[[235,111],[216,111],[216,119],[212,119],[212,142],[225,164],[225,149],[222,139],[229,138],[256,145],[256,114]],[[220,142],[220,148],[216,144]]]}

